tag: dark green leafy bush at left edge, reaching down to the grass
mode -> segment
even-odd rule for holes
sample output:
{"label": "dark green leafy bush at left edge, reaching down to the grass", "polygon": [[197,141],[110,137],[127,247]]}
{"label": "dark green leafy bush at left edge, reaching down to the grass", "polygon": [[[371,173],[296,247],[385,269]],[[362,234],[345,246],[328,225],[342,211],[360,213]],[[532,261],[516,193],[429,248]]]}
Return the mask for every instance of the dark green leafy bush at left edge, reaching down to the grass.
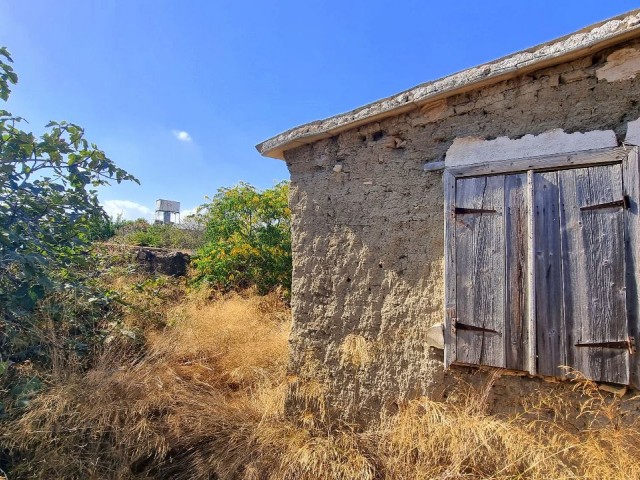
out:
{"label": "dark green leafy bush at left edge, reaching down to the grass", "polygon": [[[18,81],[10,63],[0,48],[4,101]],[[90,246],[114,231],[95,188],[137,182],[78,125],[50,122],[34,135],[21,122],[0,110],[0,417],[28,405],[44,372],[88,364],[110,303]]]}

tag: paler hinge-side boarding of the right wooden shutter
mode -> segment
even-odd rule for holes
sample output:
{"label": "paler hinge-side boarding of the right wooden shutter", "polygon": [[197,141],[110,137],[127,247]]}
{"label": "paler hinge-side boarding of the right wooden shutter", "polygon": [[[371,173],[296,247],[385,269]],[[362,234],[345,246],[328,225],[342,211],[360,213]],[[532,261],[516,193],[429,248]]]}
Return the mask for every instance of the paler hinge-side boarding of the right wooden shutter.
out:
{"label": "paler hinge-side boarding of the right wooden shutter", "polygon": [[576,346],[628,336],[623,209],[581,210],[622,197],[621,166],[560,171],[558,180],[568,363],[591,380],[626,384],[628,351]]}

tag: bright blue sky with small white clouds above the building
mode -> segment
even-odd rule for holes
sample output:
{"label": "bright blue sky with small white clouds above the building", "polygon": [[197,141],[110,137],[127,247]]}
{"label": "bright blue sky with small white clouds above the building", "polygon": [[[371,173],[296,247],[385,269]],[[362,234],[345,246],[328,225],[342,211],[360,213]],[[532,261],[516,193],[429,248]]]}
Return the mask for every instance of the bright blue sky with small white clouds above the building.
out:
{"label": "bright blue sky with small white clouds above the building", "polygon": [[87,137],[141,186],[103,189],[135,218],[219,187],[266,188],[284,162],[254,145],[638,8],[617,0],[0,0],[20,82],[8,109]]}

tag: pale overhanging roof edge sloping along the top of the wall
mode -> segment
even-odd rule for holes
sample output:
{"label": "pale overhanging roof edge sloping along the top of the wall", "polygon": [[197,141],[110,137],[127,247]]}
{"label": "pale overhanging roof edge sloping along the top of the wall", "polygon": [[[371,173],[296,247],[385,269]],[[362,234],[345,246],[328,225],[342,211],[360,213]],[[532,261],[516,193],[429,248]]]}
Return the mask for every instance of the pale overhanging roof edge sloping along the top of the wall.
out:
{"label": "pale overhanging roof edge sloping along the top of the wall", "polygon": [[347,113],[292,128],[256,145],[265,157],[284,160],[284,152],[353,128],[400,115],[427,103],[574,60],[590,52],[640,37],[640,9],[518,53],[423,83]]}

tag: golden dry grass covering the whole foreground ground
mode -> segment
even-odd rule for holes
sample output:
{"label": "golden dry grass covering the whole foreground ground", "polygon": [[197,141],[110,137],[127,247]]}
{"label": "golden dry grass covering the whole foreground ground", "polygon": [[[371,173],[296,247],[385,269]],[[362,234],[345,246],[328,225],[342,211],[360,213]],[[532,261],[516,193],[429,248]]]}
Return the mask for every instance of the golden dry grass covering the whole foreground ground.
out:
{"label": "golden dry grass covering the whole foreground ground", "polygon": [[[639,425],[588,382],[577,384],[582,429],[562,396],[489,415],[489,384],[448,403],[414,400],[356,432],[311,413],[320,382],[292,390],[289,312],[276,296],[192,296],[166,315],[173,326],[148,331],[142,353],[112,342],[8,425],[0,438],[25,459],[12,479],[640,478]],[[367,348],[349,340],[345,362],[365,364]],[[285,417],[287,391],[310,404],[302,421]]]}

